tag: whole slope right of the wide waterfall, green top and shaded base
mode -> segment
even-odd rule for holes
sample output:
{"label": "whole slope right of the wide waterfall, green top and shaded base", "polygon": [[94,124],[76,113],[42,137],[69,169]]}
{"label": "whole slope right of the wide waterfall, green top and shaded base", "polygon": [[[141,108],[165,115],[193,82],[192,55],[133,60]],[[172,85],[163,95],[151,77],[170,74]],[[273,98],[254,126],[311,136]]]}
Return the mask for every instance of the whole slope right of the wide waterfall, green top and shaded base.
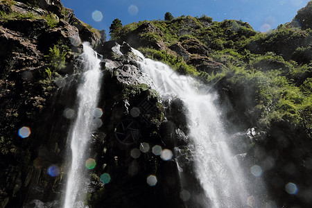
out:
{"label": "whole slope right of the wide waterfall, green top and shaded base", "polygon": [[[309,207],[311,10],[309,1],[291,23],[268,33],[243,21],[217,22],[203,15],[139,21],[113,31],[112,37],[213,87],[220,94],[228,132],[255,130],[249,166],[265,168],[263,178],[277,205]],[[300,191],[288,194],[288,182]]]}

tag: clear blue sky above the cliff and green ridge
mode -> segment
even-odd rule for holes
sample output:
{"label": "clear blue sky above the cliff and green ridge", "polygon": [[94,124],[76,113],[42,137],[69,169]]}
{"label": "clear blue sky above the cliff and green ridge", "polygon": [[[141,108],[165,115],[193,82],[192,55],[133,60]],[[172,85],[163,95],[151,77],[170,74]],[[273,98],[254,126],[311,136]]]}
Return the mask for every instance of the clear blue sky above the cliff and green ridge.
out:
{"label": "clear blue sky above the cliff and green ridge", "polygon": [[[73,9],[76,17],[98,30],[105,30],[116,18],[123,25],[144,19],[164,19],[166,12],[174,17],[205,14],[214,21],[241,19],[255,31],[268,31],[291,21],[297,10],[309,0],[61,0]],[[103,18],[101,18],[103,17]]]}

